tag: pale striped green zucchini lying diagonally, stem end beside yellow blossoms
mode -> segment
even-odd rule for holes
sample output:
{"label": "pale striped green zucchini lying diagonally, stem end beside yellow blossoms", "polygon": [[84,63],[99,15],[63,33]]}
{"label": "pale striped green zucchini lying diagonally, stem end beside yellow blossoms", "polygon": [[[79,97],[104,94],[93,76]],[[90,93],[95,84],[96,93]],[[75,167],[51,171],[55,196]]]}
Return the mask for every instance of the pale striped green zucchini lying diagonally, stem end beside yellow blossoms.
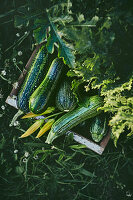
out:
{"label": "pale striped green zucchini lying diagonally, stem end beside yellow blossoms", "polygon": [[101,111],[97,109],[102,105],[103,100],[101,97],[91,96],[82,106],[64,114],[53,124],[46,143],[51,143],[55,138],[71,130],[82,121],[98,115]]}

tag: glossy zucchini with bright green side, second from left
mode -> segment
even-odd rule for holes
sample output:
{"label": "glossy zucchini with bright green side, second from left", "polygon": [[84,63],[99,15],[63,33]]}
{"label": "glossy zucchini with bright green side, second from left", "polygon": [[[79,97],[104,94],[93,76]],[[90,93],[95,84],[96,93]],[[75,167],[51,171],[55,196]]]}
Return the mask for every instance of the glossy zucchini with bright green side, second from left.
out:
{"label": "glossy zucchini with bright green side, second from left", "polygon": [[63,69],[62,59],[55,58],[42,83],[33,92],[29,100],[29,108],[35,114],[42,113],[47,106],[50,96],[55,90]]}

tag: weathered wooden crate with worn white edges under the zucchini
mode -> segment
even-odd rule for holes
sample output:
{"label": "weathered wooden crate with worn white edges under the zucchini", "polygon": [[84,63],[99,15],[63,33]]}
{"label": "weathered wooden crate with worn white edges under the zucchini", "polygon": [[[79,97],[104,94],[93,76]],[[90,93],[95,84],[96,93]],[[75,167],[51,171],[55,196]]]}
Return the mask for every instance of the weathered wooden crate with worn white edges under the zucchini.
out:
{"label": "weathered wooden crate with worn white edges under the zucchini", "polygon": [[[6,99],[6,103],[13,106],[14,108],[18,109],[17,108],[17,103],[16,103],[16,99],[17,99],[17,94],[18,94],[18,91],[25,79],[25,76],[27,74],[27,71],[28,71],[28,68],[32,62],[32,60],[34,59],[35,55],[36,55],[36,52],[38,51],[38,49],[40,48],[42,44],[36,46],[35,50],[33,51],[29,61],[27,62],[22,74],[20,75],[19,79],[18,79],[18,82],[17,84],[15,84],[15,86],[13,87],[11,93],[9,94],[9,96],[7,97]],[[101,155],[105,149],[105,147],[107,146],[107,143],[110,139],[110,133],[108,132],[108,134],[103,138],[103,140],[100,142],[100,144],[97,144],[95,143],[94,141],[88,139],[88,138],[85,138],[82,136],[82,133],[81,135],[77,134],[76,132],[74,131],[69,131],[67,132],[67,134],[69,133],[72,133],[73,134],[73,139],[80,143],[80,144],[84,144],[86,145],[86,147],[88,149],[91,149],[92,151],[98,153],[99,155]]]}

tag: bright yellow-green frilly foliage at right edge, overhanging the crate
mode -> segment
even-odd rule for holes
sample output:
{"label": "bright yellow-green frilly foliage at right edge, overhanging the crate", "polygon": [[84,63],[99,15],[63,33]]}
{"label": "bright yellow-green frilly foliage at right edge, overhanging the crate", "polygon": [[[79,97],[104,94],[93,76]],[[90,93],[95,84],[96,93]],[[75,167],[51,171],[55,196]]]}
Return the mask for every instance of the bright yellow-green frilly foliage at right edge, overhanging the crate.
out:
{"label": "bright yellow-green frilly foliage at right edge, overhanging the crate", "polygon": [[[105,102],[102,109],[112,113],[109,125],[115,145],[121,133],[128,130],[128,136],[133,134],[133,97],[130,97],[132,96],[132,84],[133,78],[131,77],[128,82],[119,87],[101,91]],[[126,91],[129,91],[127,95]]]}

